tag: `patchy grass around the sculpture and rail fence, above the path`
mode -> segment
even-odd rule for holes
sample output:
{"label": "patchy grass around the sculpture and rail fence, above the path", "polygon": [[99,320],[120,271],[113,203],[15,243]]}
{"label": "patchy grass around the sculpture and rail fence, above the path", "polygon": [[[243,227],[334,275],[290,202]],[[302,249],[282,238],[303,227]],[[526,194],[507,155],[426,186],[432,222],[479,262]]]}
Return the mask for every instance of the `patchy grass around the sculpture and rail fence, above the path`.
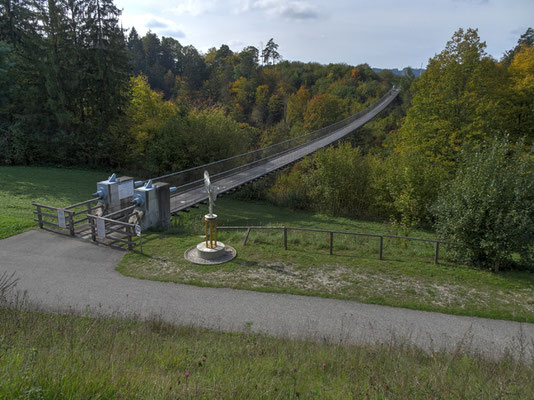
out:
{"label": "patchy grass around the sculpture and rail fence, above the path", "polygon": [[[217,201],[219,225],[273,225],[394,234],[389,224],[332,218],[296,212],[266,203],[231,198]],[[144,235],[143,251],[129,253],[118,270],[129,276],[350,299],[452,314],[534,322],[534,274],[475,270],[446,261],[434,265],[432,243],[384,240],[384,260],[378,259],[378,239],[334,237],[329,255],[326,233],[289,232],[287,251],[281,231],[252,231],[246,246],[245,231],[220,231],[219,239],[238,251],[237,258],[216,266],[187,262],[184,251],[202,241],[206,208],[181,214],[168,232]],[[415,231],[413,237],[433,238]]]}

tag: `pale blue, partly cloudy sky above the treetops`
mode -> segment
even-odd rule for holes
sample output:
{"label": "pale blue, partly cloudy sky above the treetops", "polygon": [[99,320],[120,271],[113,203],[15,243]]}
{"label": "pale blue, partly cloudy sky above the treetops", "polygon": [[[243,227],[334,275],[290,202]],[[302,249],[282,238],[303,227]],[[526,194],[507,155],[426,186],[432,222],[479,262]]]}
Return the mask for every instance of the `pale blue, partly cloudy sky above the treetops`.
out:
{"label": "pale blue, partly cloudy sky above the treetops", "polygon": [[115,0],[122,24],[206,52],[261,48],[284,60],[425,67],[458,28],[478,28],[500,59],[528,27],[534,0]]}

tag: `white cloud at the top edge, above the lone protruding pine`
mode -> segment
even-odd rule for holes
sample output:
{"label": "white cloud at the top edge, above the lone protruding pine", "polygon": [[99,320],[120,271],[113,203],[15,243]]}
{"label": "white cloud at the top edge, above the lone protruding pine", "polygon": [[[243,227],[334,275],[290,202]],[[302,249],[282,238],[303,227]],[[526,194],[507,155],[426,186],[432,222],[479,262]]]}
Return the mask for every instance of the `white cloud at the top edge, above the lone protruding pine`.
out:
{"label": "white cloud at the top edge, above the lone protruding pine", "polygon": [[303,0],[245,0],[241,11],[262,11],[271,18],[312,20],[321,17],[319,8]]}

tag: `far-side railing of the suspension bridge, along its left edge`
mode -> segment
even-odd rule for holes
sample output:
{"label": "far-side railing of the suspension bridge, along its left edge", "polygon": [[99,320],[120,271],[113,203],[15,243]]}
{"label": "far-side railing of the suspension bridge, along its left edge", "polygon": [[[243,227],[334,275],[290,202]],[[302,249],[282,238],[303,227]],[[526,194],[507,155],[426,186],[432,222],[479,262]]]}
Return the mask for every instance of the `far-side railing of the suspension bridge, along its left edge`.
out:
{"label": "far-side railing of the suspension bridge, along its left edge", "polygon": [[[158,176],[156,178],[152,178],[152,181],[153,182],[156,182],[156,181],[161,181],[163,179],[168,179],[168,178],[172,178],[172,177],[176,177],[178,175],[182,175],[182,174],[185,174],[185,173],[189,173],[189,172],[193,172],[193,171],[196,171],[196,170],[204,170],[208,167],[213,167],[214,165],[216,164],[221,164],[223,162],[227,162],[227,161],[231,161],[231,160],[235,160],[235,159],[238,159],[238,158],[241,158],[241,157],[247,157],[247,156],[250,156],[250,155],[254,155],[254,154],[257,154],[259,152],[262,152],[262,151],[266,151],[268,149],[272,149],[272,148],[275,148],[275,147],[282,147],[283,145],[286,145],[286,144],[289,144],[291,142],[296,142],[298,140],[302,140],[302,139],[305,139],[305,138],[308,138],[312,135],[318,135],[318,134],[322,134],[324,132],[327,132],[327,133],[331,133],[332,130],[337,130],[338,128],[340,127],[343,127],[343,126],[346,126],[348,124],[350,124],[351,122],[355,121],[356,119],[360,118],[362,115],[365,115],[367,114],[368,112],[370,112],[371,110],[379,107],[383,101],[385,99],[387,99],[389,96],[391,96],[391,94],[395,91],[395,89],[390,89],[384,96],[382,96],[379,100],[377,100],[376,102],[374,102],[373,104],[369,105],[368,107],[364,108],[363,110],[360,110],[358,111],[357,113],[347,117],[347,118],[344,118],[340,121],[337,121],[331,125],[328,125],[326,127],[323,127],[323,128],[320,128],[320,129],[317,129],[315,131],[312,131],[312,132],[309,132],[309,133],[306,133],[304,135],[301,135],[301,136],[297,136],[297,137],[294,137],[294,138],[290,138],[290,139],[287,139],[287,140],[284,140],[282,142],[278,142],[278,143],[274,143],[274,144],[271,144],[269,146],[266,146],[266,147],[262,147],[260,149],[256,149],[256,150],[251,150],[247,153],[242,153],[242,154],[238,154],[238,155],[235,155],[235,156],[232,156],[232,157],[228,157],[228,158],[225,158],[225,159],[221,159],[221,160],[217,160],[217,161],[212,161],[210,163],[207,163],[207,164],[203,164],[203,165],[200,165],[200,166],[197,166],[197,167],[192,167],[192,168],[188,168],[188,169],[185,169],[185,170],[182,170],[182,171],[177,171],[177,172],[173,172],[173,173],[170,173],[170,174],[166,174],[166,175],[162,175],[162,176]],[[297,148],[297,147],[295,147]],[[287,152],[288,150],[285,150],[285,151],[282,151],[282,152],[279,152],[279,153],[276,153],[276,154],[283,154],[284,152]],[[271,156],[269,157],[266,157],[266,158],[270,158]],[[188,183],[192,183],[192,182],[188,182]],[[187,185],[180,185],[180,186],[187,186]]]}

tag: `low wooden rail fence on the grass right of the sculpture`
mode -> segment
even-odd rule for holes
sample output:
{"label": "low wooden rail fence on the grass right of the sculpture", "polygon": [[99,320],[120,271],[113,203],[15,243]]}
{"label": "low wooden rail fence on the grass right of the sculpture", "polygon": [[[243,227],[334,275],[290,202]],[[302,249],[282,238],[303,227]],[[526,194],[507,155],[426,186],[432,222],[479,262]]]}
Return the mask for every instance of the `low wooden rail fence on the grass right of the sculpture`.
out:
{"label": "low wooden rail fence on the grass right of the sculpture", "polygon": [[313,229],[313,228],[296,228],[288,226],[220,226],[218,230],[246,230],[245,238],[243,240],[243,246],[247,244],[248,237],[252,230],[282,230],[284,232],[284,249],[287,250],[287,236],[289,231],[305,231],[305,232],[322,232],[328,233],[330,235],[330,255],[334,254],[334,234],[336,235],[351,235],[351,236],[366,236],[380,239],[379,242],[379,259],[384,259],[384,238],[388,239],[402,239],[402,240],[412,240],[417,242],[430,242],[434,243],[434,264],[439,263],[439,245],[447,244],[458,246],[459,243],[447,242],[444,240],[434,240],[434,239],[423,239],[423,238],[413,238],[408,236],[395,236],[395,235],[379,235],[373,233],[361,233],[361,232],[343,232],[343,231],[332,231],[327,229]]}

